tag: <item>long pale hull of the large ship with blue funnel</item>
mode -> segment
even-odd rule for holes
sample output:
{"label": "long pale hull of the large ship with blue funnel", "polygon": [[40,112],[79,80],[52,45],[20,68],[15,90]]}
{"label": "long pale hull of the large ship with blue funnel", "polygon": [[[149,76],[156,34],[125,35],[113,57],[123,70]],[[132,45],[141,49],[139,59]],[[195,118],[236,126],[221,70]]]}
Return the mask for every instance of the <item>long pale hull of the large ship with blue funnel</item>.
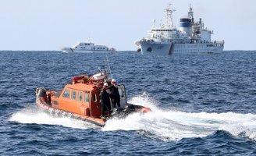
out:
{"label": "long pale hull of the large ship with blue funnel", "polygon": [[223,51],[224,46],[219,44],[172,44],[172,43],[154,43],[137,42],[143,55],[172,55],[187,52],[198,53],[219,53]]}

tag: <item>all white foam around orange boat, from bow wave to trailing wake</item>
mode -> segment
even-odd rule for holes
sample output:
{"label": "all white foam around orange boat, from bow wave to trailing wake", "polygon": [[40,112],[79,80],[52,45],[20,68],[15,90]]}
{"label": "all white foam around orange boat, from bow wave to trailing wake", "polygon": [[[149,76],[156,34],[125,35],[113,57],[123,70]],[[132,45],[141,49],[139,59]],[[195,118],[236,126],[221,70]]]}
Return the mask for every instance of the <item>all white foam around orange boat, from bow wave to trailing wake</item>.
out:
{"label": "all white foam around orange boat, from bow wave to trailing wake", "polygon": [[[162,110],[156,101],[141,94],[130,99],[129,103],[144,105],[152,112],[133,113],[125,119],[113,118],[106,122],[102,131],[137,130],[143,135],[162,140],[180,140],[188,137],[206,137],[216,130],[225,130],[235,137],[256,140],[256,115],[226,113],[188,113],[175,110]],[[91,123],[68,118],[55,118],[45,112],[26,108],[16,112],[9,119],[20,123],[60,125],[77,129],[94,129]]]}

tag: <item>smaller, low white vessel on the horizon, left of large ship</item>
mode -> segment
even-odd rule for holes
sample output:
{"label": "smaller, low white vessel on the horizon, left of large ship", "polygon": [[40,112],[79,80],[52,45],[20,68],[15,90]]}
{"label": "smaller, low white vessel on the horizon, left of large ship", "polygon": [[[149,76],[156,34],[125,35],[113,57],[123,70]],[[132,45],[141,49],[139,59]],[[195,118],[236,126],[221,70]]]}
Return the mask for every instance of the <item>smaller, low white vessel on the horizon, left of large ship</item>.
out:
{"label": "smaller, low white vessel on the horizon, left of large ship", "polygon": [[62,48],[64,53],[74,52],[105,52],[105,51],[116,51],[116,48],[108,48],[105,45],[95,45],[91,42],[80,42],[78,41],[72,48]]}

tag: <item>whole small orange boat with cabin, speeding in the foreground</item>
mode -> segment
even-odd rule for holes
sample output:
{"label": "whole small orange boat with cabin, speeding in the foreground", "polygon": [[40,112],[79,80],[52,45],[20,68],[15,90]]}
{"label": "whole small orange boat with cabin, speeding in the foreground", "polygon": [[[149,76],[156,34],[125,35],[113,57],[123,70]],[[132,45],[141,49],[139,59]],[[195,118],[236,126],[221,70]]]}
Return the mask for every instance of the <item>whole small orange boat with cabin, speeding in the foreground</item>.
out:
{"label": "whole small orange boat with cabin, speeding in the foreground", "polygon": [[98,126],[104,126],[112,116],[123,117],[132,112],[151,112],[150,108],[127,103],[125,86],[118,85],[120,107],[113,108],[111,105],[111,114],[109,115],[106,111],[103,113],[105,116],[102,117],[100,92],[103,83],[109,80],[106,72],[96,73],[93,76],[80,74],[80,76],[73,77],[63,90],[37,88],[37,105],[50,115],[81,119]]}

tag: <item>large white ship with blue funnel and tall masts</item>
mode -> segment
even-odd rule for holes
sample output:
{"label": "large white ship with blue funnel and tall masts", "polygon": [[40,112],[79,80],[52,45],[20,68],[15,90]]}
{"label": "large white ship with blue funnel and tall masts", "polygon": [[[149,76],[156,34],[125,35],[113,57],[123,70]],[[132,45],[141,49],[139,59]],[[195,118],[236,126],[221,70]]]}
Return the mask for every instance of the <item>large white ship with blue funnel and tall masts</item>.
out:
{"label": "large white ship with blue funnel and tall masts", "polygon": [[165,9],[164,23],[160,27],[153,26],[149,37],[136,41],[137,51],[143,55],[172,55],[181,52],[221,52],[224,41],[212,41],[212,30],[204,27],[200,19],[194,20],[194,12],[190,6],[187,18],[180,19],[180,27],[176,29],[172,22],[172,12],[176,11],[171,5]]}

